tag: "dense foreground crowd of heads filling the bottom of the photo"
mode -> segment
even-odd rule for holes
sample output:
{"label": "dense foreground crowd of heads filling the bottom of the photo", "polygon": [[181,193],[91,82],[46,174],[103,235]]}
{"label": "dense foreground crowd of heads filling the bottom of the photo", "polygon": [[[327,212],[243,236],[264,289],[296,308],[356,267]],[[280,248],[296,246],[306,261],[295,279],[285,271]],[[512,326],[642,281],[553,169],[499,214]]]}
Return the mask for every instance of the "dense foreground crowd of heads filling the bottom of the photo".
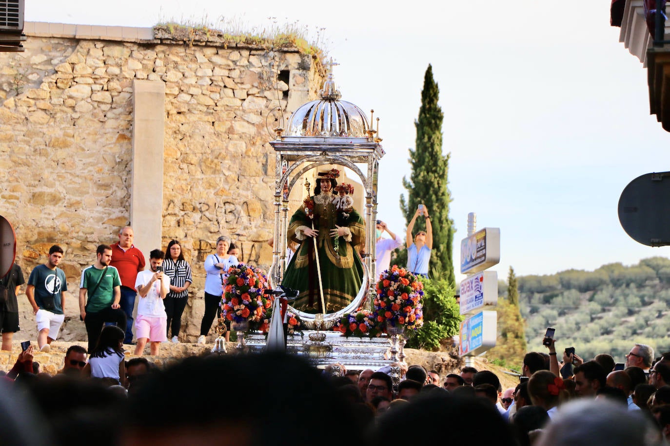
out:
{"label": "dense foreground crowd of heads filling the bottom of the photo", "polygon": [[559,362],[551,344],[526,354],[519,384],[503,389],[494,372],[472,366],[320,370],[276,352],[158,368],[124,360],[124,334],[106,326],[90,354],[71,346],[54,376],[40,373],[32,346],[22,352],[0,377],[0,444],[71,444],[87,433],[103,445],[670,444],[670,352],[655,358],[644,344],[631,348],[624,370],[608,354],[585,361],[563,352]]}

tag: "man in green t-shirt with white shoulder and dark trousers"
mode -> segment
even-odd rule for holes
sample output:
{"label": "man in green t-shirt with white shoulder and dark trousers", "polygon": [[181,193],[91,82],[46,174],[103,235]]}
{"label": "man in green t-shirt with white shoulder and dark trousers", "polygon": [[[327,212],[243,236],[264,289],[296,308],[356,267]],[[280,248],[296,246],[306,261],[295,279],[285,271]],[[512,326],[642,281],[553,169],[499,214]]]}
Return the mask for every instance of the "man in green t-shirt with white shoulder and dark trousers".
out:
{"label": "man in green t-shirt with white shoulder and dark trousers", "polygon": [[98,257],[96,262],[82,271],[82,282],[79,285],[79,311],[86,325],[89,353],[98,343],[105,322],[115,322],[121,328],[126,326],[126,315],[119,305],[121,300],[119,271],[109,266],[112,248],[100,245],[96,255]]}

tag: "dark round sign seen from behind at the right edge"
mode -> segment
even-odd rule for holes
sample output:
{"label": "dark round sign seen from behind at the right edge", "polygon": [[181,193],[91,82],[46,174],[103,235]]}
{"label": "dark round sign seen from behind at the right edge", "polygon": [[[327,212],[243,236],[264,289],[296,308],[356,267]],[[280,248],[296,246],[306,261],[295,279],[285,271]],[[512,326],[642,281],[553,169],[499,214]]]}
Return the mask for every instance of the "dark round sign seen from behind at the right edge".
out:
{"label": "dark round sign seen from behind at the right edge", "polygon": [[670,245],[670,172],[647,173],[628,183],[619,198],[618,215],[634,241]]}

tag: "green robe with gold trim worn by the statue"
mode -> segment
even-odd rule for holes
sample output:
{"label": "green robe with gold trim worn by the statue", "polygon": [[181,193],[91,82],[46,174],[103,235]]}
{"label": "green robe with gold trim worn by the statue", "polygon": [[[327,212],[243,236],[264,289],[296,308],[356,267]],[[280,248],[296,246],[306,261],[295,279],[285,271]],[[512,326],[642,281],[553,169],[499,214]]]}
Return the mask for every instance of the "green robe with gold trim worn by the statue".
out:
{"label": "green robe with gold trim worn by the statue", "polygon": [[[350,304],[360,290],[363,277],[363,265],[357,250],[365,241],[365,225],[358,212],[348,212],[343,217],[332,203],[335,195],[322,194],[311,197],[314,201],[314,229],[319,231],[316,237],[319,255],[321,279],[324,290],[326,313],[342,310]],[[335,225],[345,223],[348,233],[339,237],[339,249],[334,249],[334,237],[330,230]],[[319,278],[314,259],[314,237],[304,235],[303,230],[312,228],[312,219],[300,207],[293,213],[287,231],[289,243],[299,243],[295,255],[286,267],[281,284],[298,290],[299,294],[292,306],[296,310],[308,313],[321,312]]]}

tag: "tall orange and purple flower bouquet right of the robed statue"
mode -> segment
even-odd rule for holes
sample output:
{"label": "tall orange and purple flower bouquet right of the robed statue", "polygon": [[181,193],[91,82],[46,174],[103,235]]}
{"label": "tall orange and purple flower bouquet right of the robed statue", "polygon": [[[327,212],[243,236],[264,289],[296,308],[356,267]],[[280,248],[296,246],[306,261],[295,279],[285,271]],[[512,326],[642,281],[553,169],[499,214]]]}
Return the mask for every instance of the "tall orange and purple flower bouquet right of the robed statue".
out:
{"label": "tall orange and purple flower bouquet right of the robed statue", "polygon": [[375,305],[375,319],[393,327],[404,326],[416,330],[423,326],[423,284],[407,269],[393,265],[379,276]]}

